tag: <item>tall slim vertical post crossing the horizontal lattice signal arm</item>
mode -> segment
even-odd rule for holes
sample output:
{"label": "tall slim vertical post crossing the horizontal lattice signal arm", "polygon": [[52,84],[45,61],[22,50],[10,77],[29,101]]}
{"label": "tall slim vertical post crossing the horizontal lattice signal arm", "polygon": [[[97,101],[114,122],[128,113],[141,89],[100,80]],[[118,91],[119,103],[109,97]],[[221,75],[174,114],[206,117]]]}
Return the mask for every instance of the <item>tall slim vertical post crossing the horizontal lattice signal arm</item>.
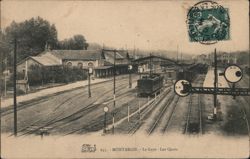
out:
{"label": "tall slim vertical post crossing the horizontal lattice signal arm", "polygon": [[214,120],[217,118],[217,83],[218,83],[218,75],[217,75],[217,55],[216,48],[214,49]]}

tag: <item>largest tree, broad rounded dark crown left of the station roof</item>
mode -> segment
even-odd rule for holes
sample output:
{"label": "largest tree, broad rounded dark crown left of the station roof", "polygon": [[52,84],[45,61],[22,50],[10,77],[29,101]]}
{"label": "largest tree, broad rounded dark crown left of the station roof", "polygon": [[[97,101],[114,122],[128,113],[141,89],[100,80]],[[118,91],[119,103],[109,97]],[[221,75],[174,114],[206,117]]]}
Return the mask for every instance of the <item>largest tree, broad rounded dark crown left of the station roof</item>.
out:
{"label": "largest tree, broad rounded dark crown left of the station roof", "polygon": [[9,44],[13,44],[14,39],[17,39],[18,61],[44,51],[46,44],[53,49],[58,41],[55,25],[51,25],[41,17],[31,18],[20,23],[13,21],[5,29],[5,34],[6,42]]}

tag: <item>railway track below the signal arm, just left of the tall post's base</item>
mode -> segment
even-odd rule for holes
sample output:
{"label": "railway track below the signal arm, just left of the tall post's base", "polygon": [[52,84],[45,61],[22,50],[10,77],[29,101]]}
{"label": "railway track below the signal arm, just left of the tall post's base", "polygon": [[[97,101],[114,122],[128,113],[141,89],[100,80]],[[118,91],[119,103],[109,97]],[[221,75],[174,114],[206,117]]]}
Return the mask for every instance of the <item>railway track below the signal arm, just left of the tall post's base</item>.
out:
{"label": "railway track below the signal arm, just left of the tall post's base", "polygon": [[190,95],[184,134],[203,134],[201,95]]}

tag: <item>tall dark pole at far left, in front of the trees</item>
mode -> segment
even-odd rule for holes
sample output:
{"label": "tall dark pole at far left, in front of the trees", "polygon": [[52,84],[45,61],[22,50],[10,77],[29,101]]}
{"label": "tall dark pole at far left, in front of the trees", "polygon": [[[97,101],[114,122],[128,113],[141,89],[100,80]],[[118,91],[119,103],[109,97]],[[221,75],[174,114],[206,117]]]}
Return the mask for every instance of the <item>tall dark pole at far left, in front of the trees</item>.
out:
{"label": "tall dark pole at far left, in front of the trees", "polygon": [[17,102],[16,102],[16,57],[17,57],[17,40],[15,37],[14,40],[14,66],[13,66],[13,86],[14,86],[14,97],[13,97],[13,104],[14,104],[14,135],[17,136]]}

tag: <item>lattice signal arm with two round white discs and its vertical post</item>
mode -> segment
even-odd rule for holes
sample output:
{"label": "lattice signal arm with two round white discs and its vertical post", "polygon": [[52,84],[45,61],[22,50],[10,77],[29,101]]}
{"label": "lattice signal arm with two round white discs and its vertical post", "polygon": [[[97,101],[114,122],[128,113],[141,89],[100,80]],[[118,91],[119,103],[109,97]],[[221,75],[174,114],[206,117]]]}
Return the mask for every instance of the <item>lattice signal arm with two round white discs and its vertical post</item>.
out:
{"label": "lattice signal arm with two round white discs and its vertical post", "polygon": [[188,96],[189,94],[212,94],[214,96],[214,109],[213,119],[217,120],[217,95],[231,95],[235,99],[236,96],[250,96],[250,88],[235,88],[235,83],[242,79],[243,73],[240,67],[237,65],[231,65],[227,67],[224,73],[220,76],[224,76],[225,79],[233,84],[232,88],[218,87],[218,74],[217,74],[217,56],[216,49],[214,54],[214,86],[213,87],[193,87],[187,80],[178,80],[174,84],[174,91],[180,97]]}

